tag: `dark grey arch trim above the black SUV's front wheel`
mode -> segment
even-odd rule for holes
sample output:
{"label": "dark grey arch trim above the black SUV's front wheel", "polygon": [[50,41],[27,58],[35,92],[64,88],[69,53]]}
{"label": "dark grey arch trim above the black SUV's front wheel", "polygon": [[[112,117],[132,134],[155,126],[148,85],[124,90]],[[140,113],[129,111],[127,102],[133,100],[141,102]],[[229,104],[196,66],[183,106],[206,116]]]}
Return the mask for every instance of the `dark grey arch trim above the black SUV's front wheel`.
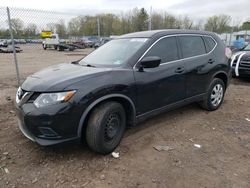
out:
{"label": "dark grey arch trim above the black SUV's front wheel", "polygon": [[77,136],[79,138],[81,138],[81,135],[82,135],[82,128],[83,128],[83,123],[88,115],[88,113],[97,105],[99,104],[100,102],[106,100],[106,99],[110,99],[110,98],[113,98],[113,97],[119,97],[119,98],[123,98],[123,99],[126,99],[132,106],[132,109],[133,109],[133,118],[132,118],[132,121],[133,123],[135,123],[135,118],[136,118],[136,110],[135,110],[135,105],[134,105],[134,102],[126,95],[123,95],[123,94],[109,94],[109,95],[105,95],[103,97],[100,97],[98,98],[97,100],[95,100],[93,103],[91,103],[87,109],[83,112],[82,116],[81,116],[81,119],[80,119],[80,122],[79,122],[79,125],[78,125],[78,130],[77,130]]}

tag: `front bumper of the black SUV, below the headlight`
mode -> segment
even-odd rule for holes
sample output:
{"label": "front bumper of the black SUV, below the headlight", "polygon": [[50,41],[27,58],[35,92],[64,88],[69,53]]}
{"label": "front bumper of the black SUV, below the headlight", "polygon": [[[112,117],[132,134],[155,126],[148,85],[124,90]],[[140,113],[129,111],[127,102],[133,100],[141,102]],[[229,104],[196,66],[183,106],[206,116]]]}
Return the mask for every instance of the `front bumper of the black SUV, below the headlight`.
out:
{"label": "front bumper of the black SUV, below the headlight", "polygon": [[16,105],[18,126],[28,139],[42,146],[80,140],[77,135],[80,117],[72,116],[69,103],[36,108],[33,103]]}

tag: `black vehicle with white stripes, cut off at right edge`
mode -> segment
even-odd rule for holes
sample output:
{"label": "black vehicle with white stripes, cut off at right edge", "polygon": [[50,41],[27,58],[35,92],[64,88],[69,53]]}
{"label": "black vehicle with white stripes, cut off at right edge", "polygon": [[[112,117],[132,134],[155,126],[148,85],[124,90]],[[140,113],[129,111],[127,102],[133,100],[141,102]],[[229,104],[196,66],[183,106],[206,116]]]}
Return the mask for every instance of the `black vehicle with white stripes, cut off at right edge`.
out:
{"label": "black vehicle with white stripes, cut off at right edge", "polygon": [[233,76],[250,77],[250,44],[233,54],[231,66]]}

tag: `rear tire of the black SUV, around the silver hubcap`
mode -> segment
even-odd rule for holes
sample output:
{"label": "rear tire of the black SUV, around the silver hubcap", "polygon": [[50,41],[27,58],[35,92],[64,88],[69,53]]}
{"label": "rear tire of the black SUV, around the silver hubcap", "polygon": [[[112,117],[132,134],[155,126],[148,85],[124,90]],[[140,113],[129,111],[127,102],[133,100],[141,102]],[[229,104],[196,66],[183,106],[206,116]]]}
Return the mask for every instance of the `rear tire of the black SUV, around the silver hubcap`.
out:
{"label": "rear tire of the black SUV, around the silver hubcap", "polygon": [[[216,87],[222,88],[222,91],[220,91],[217,94],[218,98],[212,97],[212,95],[215,96]],[[209,90],[206,94],[205,99],[199,103],[200,106],[208,111],[217,110],[223,103],[225,91],[226,91],[226,87],[225,87],[224,82],[219,78],[214,78],[213,81],[210,83]],[[216,102],[216,98],[218,99],[217,102]]]}

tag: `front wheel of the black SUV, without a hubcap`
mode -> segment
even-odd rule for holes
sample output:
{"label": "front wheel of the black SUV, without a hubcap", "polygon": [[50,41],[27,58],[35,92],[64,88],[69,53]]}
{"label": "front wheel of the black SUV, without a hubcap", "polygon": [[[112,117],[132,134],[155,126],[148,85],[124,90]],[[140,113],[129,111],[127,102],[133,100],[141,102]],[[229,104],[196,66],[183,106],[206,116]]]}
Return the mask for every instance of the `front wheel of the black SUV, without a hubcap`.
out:
{"label": "front wheel of the black SUV, without a hubcap", "polygon": [[90,114],[86,141],[89,148],[100,154],[111,153],[120,143],[126,127],[124,108],[117,102],[97,106]]}

